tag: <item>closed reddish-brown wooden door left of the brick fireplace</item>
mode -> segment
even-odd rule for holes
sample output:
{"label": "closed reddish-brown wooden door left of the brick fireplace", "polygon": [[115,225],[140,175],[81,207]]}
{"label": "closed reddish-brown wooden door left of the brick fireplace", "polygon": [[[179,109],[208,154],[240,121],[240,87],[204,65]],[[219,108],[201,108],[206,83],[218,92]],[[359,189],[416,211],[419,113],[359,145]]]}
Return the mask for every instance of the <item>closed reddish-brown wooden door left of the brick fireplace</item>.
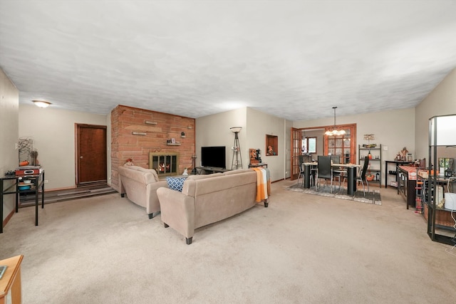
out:
{"label": "closed reddish-brown wooden door left of the brick fireplace", "polygon": [[76,124],[76,185],[106,182],[106,126]]}

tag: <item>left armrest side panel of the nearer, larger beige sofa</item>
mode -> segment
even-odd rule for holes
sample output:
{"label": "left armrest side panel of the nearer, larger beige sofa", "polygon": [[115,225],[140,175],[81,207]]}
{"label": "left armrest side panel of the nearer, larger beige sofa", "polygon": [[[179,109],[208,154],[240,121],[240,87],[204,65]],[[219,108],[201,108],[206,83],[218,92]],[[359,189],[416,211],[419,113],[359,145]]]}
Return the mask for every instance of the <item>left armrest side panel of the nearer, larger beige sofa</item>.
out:
{"label": "left armrest side panel of the nearer, larger beige sofa", "polygon": [[168,188],[157,189],[163,223],[187,239],[195,234],[195,199]]}

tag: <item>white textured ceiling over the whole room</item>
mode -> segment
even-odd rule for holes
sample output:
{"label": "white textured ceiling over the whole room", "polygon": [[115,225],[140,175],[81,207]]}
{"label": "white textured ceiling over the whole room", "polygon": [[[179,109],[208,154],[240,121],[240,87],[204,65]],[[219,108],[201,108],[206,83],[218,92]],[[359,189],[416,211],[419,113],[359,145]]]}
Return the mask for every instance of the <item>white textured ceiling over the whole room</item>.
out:
{"label": "white textured ceiling over the whole room", "polygon": [[20,103],[288,120],[412,108],[456,67],[455,0],[0,0]]}

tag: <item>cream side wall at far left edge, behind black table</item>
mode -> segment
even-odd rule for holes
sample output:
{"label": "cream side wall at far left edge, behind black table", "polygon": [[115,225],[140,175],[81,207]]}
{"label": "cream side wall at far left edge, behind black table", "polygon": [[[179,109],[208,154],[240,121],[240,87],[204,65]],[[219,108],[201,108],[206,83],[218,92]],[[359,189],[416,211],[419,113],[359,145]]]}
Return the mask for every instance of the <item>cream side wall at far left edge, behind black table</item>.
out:
{"label": "cream side wall at far left edge, behind black table", "polygon": [[[19,90],[0,68],[0,175],[18,165],[16,143],[19,138]],[[6,184],[10,184],[6,182]],[[4,196],[2,223],[14,214],[16,200],[14,195]]]}

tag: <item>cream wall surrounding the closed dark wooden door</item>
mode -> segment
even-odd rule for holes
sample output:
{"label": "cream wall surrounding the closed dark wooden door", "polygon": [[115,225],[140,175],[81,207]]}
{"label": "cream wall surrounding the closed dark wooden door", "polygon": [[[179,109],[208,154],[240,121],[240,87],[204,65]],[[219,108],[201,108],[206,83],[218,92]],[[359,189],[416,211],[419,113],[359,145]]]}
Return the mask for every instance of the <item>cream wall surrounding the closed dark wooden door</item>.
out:
{"label": "cream wall surrounding the closed dark wooden door", "polygon": [[106,125],[106,115],[19,105],[19,137],[33,139],[47,190],[76,187],[75,123]]}

